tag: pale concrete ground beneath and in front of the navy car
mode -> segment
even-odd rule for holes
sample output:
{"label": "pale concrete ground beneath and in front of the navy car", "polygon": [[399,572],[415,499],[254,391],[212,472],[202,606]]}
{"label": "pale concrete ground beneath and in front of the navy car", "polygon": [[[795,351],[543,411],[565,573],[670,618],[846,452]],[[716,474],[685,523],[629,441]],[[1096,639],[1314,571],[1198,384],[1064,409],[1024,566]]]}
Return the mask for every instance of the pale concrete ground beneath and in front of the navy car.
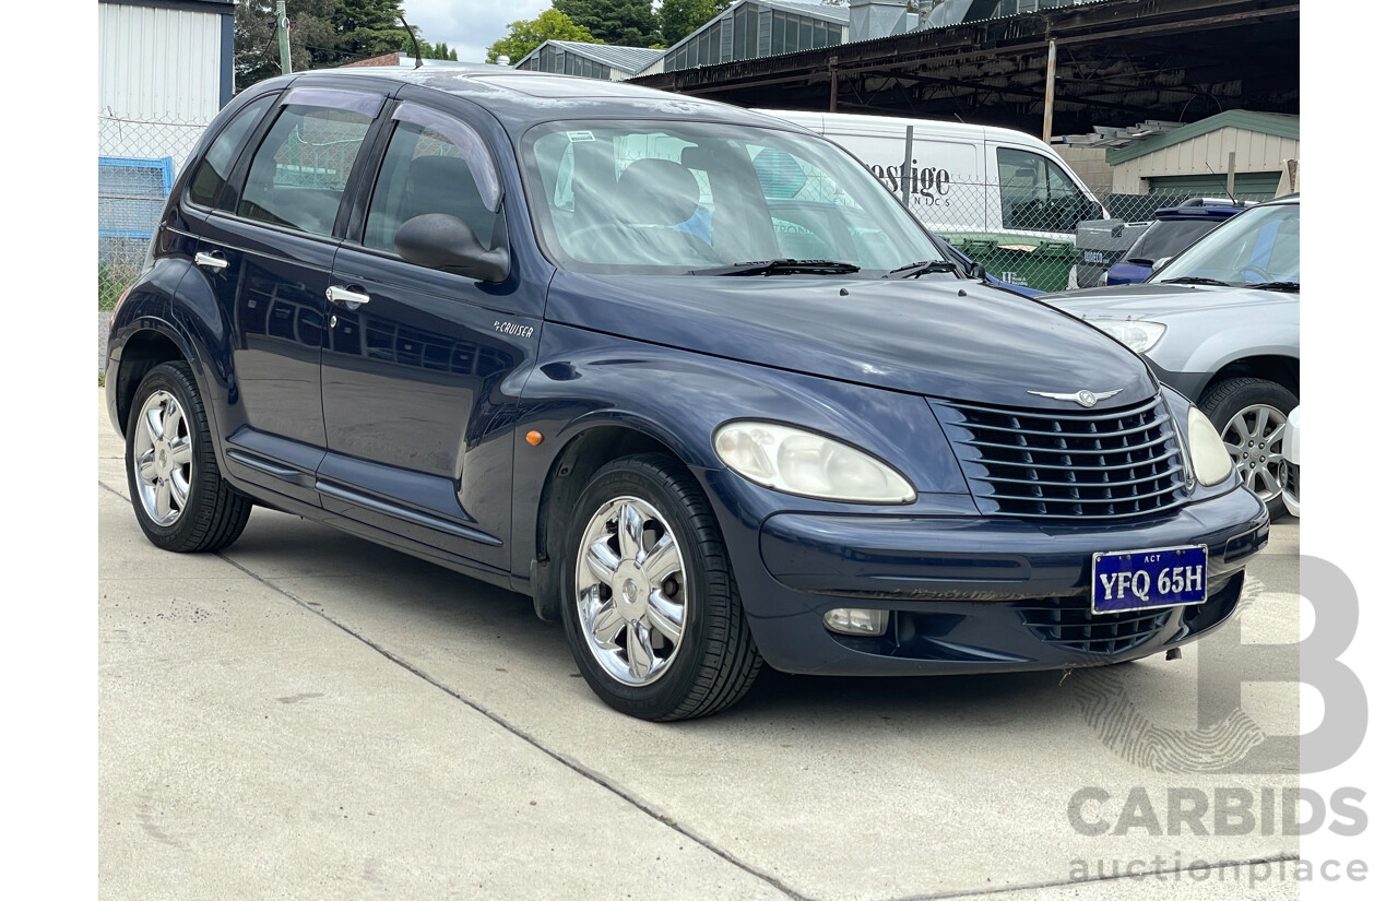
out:
{"label": "pale concrete ground beneath and in front of the navy car", "polygon": [[[1201,705],[1253,655],[1295,662],[1295,520],[1240,638],[1180,661],[768,671],[719,717],[653,725],[597,701],[526,598],[334,529],[256,510],[226,552],[154,549],[98,406],[105,898],[1299,897],[1276,873],[1297,838],[1261,826],[1295,742],[1219,771],[1299,732],[1297,687]],[[1215,819],[1237,791],[1251,828]]]}

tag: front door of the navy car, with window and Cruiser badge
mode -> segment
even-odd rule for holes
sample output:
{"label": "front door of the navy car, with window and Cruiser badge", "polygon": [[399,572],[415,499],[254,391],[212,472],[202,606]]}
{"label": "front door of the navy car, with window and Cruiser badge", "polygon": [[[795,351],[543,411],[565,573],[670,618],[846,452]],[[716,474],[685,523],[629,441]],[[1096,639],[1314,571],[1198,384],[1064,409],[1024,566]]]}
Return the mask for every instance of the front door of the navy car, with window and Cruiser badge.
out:
{"label": "front door of the navy car, with window and Cruiser badge", "polygon": [[365,184],[331,278],[341,299],[322,366],[322,503],[507,571],[514,395],[505,383],[535,356],[542,298],[516,268],[478,282],[394,249],[398,226],[424,214],[454,215],[484,247],[505,246],[499,168],[460,115],[404,99]]}

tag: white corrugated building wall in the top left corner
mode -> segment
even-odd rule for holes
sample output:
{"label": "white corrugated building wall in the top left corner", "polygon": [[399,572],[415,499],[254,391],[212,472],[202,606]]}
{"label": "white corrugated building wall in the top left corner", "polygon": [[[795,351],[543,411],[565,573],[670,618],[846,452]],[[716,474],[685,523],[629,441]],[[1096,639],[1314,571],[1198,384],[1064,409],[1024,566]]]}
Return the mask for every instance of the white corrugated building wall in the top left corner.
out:
{"label": "white corrugated building wall in the top left corner", "polygon": [[215,13],[98,4],[98,154],[175,168],[218,112]]}

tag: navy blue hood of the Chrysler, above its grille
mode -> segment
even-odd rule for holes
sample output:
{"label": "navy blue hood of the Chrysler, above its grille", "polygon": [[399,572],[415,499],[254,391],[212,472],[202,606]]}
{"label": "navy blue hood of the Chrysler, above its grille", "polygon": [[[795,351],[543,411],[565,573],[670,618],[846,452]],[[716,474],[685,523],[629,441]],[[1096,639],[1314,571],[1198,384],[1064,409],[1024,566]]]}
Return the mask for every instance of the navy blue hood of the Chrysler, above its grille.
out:
{"label": "navy blue hood of the Chrysler, above its grille", "polygon": [[[843,293],[842,293],[843,292]],[[1155,394],[1144,362],[1050,306],[966,279],[559,271],[545,318],[930,397],[1064,409],[1030,391]]]}

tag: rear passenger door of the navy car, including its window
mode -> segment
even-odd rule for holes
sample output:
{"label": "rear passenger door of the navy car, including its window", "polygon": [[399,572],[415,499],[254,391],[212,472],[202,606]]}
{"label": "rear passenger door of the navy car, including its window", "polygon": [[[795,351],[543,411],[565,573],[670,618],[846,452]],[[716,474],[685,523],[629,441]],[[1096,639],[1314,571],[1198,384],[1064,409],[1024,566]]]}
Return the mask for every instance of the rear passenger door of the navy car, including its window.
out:
{"label": "rear passenger door of the navy car, including its window", "polygon": [[384,98],[292,88],[204,222],[200,268],[231,324],[233,390],[221,415],[233,475],[317,503],[324,455],[320,349],[341,203]]}

